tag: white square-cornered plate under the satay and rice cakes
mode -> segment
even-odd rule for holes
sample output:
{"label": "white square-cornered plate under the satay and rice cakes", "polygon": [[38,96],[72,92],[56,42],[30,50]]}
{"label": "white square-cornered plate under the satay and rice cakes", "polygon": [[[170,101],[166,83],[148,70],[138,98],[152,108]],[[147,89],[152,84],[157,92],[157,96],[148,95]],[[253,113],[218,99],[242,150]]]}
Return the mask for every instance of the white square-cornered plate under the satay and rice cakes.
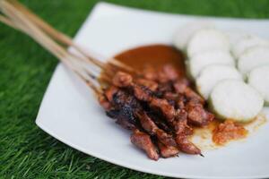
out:
{"label": "white square-cornered plate under the satay and rice cakes", "polygon": [[[112,56],[130,47],[171,44],[175,30],[196,19],[213,21],[224,30],[242,30],[269,38],[269,21],[153,13],[100,3],[75,41],[100,55]],[[205,151],[205,158],[181,154],[178,158],[152,161],[131,144],[126,130],[104,115],[91,90],[62,64],[49,83],[36,123],[74,149],[146,173],[184,178],[269,177],[268,124],[244,142]]]}

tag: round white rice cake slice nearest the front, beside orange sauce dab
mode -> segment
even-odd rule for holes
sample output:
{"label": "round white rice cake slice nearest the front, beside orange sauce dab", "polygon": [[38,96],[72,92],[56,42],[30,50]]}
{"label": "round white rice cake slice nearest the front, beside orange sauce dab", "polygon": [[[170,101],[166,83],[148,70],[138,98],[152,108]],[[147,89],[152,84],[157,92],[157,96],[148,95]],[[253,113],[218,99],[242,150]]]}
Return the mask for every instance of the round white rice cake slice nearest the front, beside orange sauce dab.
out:
{"label": "round white rice cake slice nearest the front, beside orange sauce dab", "polygon": [[210,106],[221,119],[247,123],[261,112],[264,99],[244,81],[224,80],[213,88]]}

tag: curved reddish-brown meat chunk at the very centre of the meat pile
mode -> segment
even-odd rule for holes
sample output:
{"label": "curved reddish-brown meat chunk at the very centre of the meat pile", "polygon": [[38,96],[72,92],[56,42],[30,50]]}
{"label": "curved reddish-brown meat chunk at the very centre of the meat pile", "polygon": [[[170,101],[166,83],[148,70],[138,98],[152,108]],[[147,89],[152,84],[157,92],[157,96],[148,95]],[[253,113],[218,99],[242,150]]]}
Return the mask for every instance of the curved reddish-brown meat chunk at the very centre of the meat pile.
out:
{"label": "curved reddish-brown meat chunk at the very centre of the meat pile", "polygon": [[175,108],[164,98],[152,98],[150,107],[161,110],[162,115],[171,123],[175,117]]}

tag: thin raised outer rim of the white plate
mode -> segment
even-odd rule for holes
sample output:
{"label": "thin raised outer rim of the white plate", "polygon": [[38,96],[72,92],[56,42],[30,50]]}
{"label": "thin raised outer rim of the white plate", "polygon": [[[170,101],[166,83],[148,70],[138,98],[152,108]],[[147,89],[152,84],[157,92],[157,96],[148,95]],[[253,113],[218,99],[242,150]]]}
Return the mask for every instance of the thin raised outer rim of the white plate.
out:
{"label": "thin raised outer rim of the white plate", "polygon": [[[99,11],[100,9],[102,8],[121,8],[123,10],[126,10],[126,11],[137,11],[137,12],[141,12],[141,13],[152,13],[152,14],[160,14],[160,15],[169,15],[169,16],[183,16],[183,17],[190,17],[190,18],[197,18],[197,19],[213,19],[213,20],[229,20],[229,21],[263,21],[263,22],[269,22],[268,19],[244,19],[244,18],[232,18],[232,17],[215,17],[215,16],[199,16],[199,15],[188,15],[188,14],[179,14],[179,13],[165,13],[165,12],[157,12],[157,11],[151,11],[151,10],[143,10],[143,9],[138,9],[138,8],[134,8],[134,7],[129,7],[129,6],[124,6],[124,5],[118,5],[118,4],[111,4],[111,3],[106,3],[106,2],[99,2],[97,4],[95,4],[92,9],[91,9],[91,12],[87,15],[87,17],[85,18],[85,21],[82,22],[82,26],[80,27],[79,30],[77,30],[75,36],[74,36],[74,40],[75,38],[77,38],[77,36],[80,34],[80,31],[83,29],[83,26],[86,25],[86,21],[90,21],[91,18],[92,18],[92,14],[96,13],[97,11]],[[108,158],[108,157],[105,157],[103,155],[101,155],[100,153],[97,153],[95,151],[92,151],[89,152],[89,149],[83,149],[81,148],[80,146],[76,146],[74,145],[72,142],[69,142],[68,140],[65,140],[64,138],[58,136],[55,132],[52,132],[50,131],[46,126],[44,126],[43,124],[39,123],[39,115],[40,115],[40,111],[41,111],[41,108],[42,108],[42,104],[43,104],[43,100],[44,98],[46,98],[46,96],[48,95],[48,88],[52,85],[52,81],[54,81],[54,79],[56,78],[56,72],[58,72],[58,69],[59,68],[65,68],[65,66],[63,66],[62,63],[59,63],[56,65],[56,68],[52,74],[52,77],[50,78],[50,81],[48,82],[48,87],[44,93],[44,96],[42,98],[42,101],[40,103],[40,106],[39,106],[39,111],[38,111],[38,115],[36,117],[36,121],[35,121],[35,124],[37,124],[39,126],[39,128],[44,131],[44,132],[47,132],[48,135],[54,137],[57,141],[61,141],[63,143],[65,143],[66,145],[68,145],[69,147],[73,148],[73,149],[76,149],[76,150],[79,150],[81,151],[82,153],[86,154],[86,155],[90,155],[91,157],[94,157],[94,158],[100,158],[101,160],[104,160],[106,162],[109,162],[111,164],[115,164],[117,166],[122,166],[122,167],[126,167],[128,169],[132,169],[132,170],[135,170],[135,171],[138,171],[138,172],[142,172],[142,173],[147,173],[147,174],[152,174],[152,175],[161,175],[161,176],[169,176],[169,177],[174,177],[174,178],[178,178],[178,177],[182,177],[182,178],[199,178],[199,179],[221,179],[221,178],[225,178],[225,179],[230,179],[230,178],[235,178],[234,176],[217,176],[217,175],[208,175],[208,176],[198,176],[198,175],[180,175],[180,174],[170,174],[168,172],[162,172],[162,171],[159,171],[159,172],[156,172],[154,170],[151,170],[151,169],[147,169],[147,168],[143,168],[143,167],[140,167],[140,166],[135,166],[135,165],[131,165],[131,164],[128,164],[126,162],[120,162],[120,160],[115,160],[115,159],[111,159],[111,158]],[[88,150],[88,151],[87,151]],[[248,175],[248,176],[244,176],[244,175],[241,175],[241,176],[236,176],[236,178],[239,178],[239,179],[253,179],[253,178],[266,178],[266,177],[269,177],[269,173],[268,175]]]}

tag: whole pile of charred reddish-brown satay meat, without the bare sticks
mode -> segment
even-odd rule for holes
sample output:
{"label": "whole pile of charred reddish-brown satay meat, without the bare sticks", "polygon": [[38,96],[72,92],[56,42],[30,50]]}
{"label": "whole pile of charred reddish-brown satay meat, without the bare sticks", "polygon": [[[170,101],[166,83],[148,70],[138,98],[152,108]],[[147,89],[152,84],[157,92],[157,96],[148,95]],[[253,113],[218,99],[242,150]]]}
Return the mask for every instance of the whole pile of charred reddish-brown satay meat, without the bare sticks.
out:
{"label": "whole pile of charred reddish-brown satay meat, without the bare sticks", "polygon": [[202,155],[189,140],[192,125],[204,126],[214,118],[204,108],[204,98],[171,65],[148,67],[139,76],[117,72],[100,105],[117,124],[133,131],[132,143],[154,160],[159,152],[162,158],[177,156],[179,150]]}

